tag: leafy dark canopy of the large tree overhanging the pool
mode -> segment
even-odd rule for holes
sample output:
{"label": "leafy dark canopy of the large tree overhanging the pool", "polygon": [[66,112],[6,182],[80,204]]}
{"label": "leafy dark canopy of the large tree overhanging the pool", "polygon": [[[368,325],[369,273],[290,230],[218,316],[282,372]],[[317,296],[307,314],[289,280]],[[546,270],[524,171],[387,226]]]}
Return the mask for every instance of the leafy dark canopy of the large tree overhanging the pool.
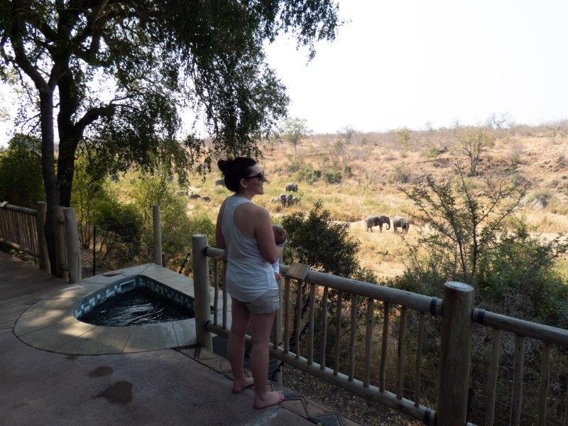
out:
{"label": "leafy dark canopy of the large tree overhanging the pool", "polygon": [[[196,155],[207,167],[219,151],[258,153],[288,106],[263,43],[293,33],[311,57],[334,39],[337,11],[333,0],[0,0],[0,78],[15,73],[26,94],[20,121],[42,141],[48,207],[70,205],[80,143],[180,173]],[[202,114],[211,145],[180,134],[183,108]]]}

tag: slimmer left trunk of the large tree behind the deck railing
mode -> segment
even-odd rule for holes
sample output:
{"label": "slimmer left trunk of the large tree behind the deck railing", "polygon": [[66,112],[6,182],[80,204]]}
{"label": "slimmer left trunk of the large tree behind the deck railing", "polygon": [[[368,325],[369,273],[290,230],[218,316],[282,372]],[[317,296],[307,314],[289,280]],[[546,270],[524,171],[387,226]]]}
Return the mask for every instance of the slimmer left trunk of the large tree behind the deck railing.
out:
{"label": "slimmer left trunk of the large tree behind the deck railing", "polygon": [[40,126],[41,126],[41,172],[45,186],[45,201],[48,211],[45,215],[45,242],[51,273],[56,273],[55,260],[55,223],[53,207],[59,205],[58,181],[55,178],[55,158],[53,139],[53,91],[40,90]]}

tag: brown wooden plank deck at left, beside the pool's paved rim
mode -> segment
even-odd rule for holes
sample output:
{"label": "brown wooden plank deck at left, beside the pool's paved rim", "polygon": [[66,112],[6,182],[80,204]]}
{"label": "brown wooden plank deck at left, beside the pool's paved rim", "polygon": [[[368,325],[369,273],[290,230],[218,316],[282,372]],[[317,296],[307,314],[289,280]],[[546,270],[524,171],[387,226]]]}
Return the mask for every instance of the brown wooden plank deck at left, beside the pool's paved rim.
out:
{"label": "brown wooden plank deck at left, beside the pool's paved rim", "polygon": [[0,334],[11,332],[23,311],[64,285],[64,280],[0,251]]}

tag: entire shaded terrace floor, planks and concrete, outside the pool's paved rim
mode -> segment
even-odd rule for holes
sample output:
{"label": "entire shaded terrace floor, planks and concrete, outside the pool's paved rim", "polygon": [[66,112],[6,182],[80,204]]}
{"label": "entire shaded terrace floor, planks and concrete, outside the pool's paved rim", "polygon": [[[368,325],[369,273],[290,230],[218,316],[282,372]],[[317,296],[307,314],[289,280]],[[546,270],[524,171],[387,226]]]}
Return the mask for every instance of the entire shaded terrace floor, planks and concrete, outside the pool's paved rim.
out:
{"label": "entire shaded terrace floor, planks and concrete, outside the pool's paved rim", "polygon": [[26,310],[66,287],[0,252],[0,425],[355,424],[289,391],[282,405],[254,410],[251,389],[231,393],[229,364],[192,346],[77,355],[56,352],[76,352],[82,344],[70,342],[81,334],[53,351],[18,339],[13,327]]}

